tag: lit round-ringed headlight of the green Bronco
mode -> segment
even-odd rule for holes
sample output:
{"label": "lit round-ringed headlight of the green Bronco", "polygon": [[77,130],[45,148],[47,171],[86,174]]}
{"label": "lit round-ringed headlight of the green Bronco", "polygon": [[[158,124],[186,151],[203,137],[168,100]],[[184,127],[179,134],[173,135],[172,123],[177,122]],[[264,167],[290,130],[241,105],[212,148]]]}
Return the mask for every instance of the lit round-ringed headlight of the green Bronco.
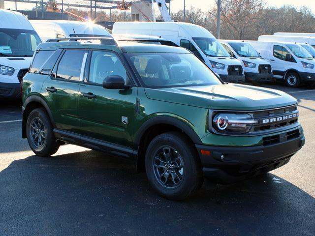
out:
{"label": "lit round-ringed headlight of the green Bronco", "polygon": [[212,126],[220,133],[247,133],[257,123],[249,114],[218,113]]}

